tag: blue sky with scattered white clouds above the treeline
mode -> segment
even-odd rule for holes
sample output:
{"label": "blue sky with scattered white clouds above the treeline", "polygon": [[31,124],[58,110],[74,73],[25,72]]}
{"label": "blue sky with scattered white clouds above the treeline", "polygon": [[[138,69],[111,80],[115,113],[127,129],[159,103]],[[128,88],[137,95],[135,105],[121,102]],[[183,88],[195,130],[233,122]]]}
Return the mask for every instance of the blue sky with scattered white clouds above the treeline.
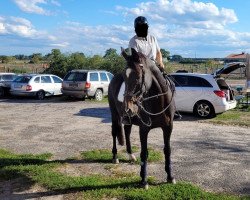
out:
{"label": "blue sky with scattered white clouds above the treeline", "polygon": [[0,55],[120,53],[137,16],[171,55],[250,53],[249,8],[249,0],[1,0]]}

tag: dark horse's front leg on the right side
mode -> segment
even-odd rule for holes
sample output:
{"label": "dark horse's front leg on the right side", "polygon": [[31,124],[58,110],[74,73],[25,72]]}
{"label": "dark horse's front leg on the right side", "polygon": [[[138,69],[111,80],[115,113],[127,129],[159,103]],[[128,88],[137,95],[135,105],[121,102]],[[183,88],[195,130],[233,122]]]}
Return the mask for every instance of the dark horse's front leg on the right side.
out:
{"label": "dark horse's front leg on the right side", "polygon": [[170,137],[173,130],[173,123],[171,123],[169,126],[165,126],[165,128],[162,128],[162,130],[164,138],[165,171],[167,173],[167,182],[175,184],[175,179],[172,176],[170,147]]}

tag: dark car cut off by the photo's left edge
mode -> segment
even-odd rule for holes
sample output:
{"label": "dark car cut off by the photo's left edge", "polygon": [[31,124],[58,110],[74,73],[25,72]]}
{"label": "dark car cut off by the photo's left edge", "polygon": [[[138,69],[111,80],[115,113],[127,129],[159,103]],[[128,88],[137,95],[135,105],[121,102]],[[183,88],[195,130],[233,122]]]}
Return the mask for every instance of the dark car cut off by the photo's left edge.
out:
{"label": "dark car cut off by the photo's left edge", "polygon": [[9,93],[11,82],[16,76],[15,73],[0,73],[0,97]]}

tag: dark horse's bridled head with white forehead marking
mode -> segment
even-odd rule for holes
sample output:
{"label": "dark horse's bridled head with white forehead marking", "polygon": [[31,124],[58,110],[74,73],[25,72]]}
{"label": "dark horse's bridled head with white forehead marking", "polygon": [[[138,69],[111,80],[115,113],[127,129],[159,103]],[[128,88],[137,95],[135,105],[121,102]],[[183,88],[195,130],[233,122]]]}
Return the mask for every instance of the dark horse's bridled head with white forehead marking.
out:
{"label": "dark horse's bridled head with white forehead marking", "polygon": [[127,61],[123,75],[125,82],[123,106],[126,114],[133,117],[139,111],[138,103],[151,85],[152,80],[148,75],[151,72],[146,67],[147,58],[133,48],[129,49],[129,52],[122,49],[122,55]]}

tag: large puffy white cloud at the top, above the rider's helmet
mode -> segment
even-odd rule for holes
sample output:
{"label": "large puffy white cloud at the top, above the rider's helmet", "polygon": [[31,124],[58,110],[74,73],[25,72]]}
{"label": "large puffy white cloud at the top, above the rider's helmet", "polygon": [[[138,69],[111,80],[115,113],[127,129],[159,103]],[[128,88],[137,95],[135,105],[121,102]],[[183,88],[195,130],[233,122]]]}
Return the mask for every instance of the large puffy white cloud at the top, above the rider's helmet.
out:
{"label": "large puffy white cloud at the top, above the rider's helmet", "polygon": [[119,6],[117,10],[123,12],[124,16],[146,16],[150,22],[160,21],[202,29],[222,29],[238,20],[231,9],[219,9],[212,3],[191,0],[158,0],[140,3],[135,8]]}

